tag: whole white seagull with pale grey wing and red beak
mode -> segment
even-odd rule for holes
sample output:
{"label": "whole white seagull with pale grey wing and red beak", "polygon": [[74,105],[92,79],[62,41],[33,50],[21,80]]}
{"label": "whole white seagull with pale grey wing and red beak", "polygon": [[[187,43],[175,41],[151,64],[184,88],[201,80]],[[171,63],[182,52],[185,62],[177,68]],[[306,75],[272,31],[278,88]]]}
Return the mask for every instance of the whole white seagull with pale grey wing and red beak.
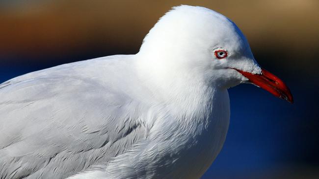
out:
{"label": "whole white seagull with pale grey wing and red beak", "polygon": [[31,72],[0,85],[0,179],[199,179],[227,134],[227,89],[293,102],[234,22],[173,7],[134,55]]}

